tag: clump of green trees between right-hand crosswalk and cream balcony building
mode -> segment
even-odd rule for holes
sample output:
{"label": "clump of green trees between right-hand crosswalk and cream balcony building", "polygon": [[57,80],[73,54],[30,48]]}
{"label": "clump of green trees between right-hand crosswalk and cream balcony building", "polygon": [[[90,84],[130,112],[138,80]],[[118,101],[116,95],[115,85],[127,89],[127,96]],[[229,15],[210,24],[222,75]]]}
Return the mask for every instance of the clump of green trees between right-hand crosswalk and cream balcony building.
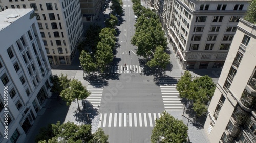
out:
{"label": "clump of green trees between right-hand crosswalk and cream balcony building", "polygon": [[193,103],[193,110],[197,116],[207,113],[207,106],[215,91],[215,84],[209,76],[192,77],[189,71],[185,71],[177,84],[180,97]]}

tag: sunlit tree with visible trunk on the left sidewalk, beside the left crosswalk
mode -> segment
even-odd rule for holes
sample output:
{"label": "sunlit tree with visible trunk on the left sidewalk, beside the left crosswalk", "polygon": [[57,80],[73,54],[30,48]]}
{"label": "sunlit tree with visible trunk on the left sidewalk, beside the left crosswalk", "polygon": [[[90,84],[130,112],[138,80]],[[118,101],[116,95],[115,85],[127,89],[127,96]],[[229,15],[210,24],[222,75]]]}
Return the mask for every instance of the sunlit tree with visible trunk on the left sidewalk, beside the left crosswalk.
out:
{"label": "sunlit tree with visible trunk on the left sidewalk, beside the left crosswalk", "polygon": [[77,100],[78,110],[80,111],[79,107],[79,101],[86,99],[88,96],[90,96],[90,91],[86,89],[82,85],[80,81],[77,79],[73,79],[70,81],[70,88],[67,88],[60,93],[60,97],[66,101],[66,104],[69,106],[71,102],[74,100]]}

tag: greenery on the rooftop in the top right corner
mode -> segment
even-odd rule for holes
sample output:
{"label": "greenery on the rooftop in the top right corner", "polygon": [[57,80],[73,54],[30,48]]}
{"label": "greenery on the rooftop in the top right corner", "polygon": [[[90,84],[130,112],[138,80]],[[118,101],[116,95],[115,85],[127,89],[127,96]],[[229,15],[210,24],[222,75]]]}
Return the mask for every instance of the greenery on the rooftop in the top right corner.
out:
{"label": "greenery on the rooftop in the top right corner", "polygon": [[252,24],[256,23],[256,0],[252,0],[244,16],[244,19]]}

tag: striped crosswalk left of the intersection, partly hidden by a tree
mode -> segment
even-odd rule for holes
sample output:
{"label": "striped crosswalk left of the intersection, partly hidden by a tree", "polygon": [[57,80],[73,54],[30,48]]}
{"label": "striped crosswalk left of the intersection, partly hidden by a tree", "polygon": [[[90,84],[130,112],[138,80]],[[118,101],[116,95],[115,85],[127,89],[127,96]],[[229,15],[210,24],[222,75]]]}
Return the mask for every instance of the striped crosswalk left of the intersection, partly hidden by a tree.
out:
{"label": "striped crosswalk left of the intersection, partly hidden by a tree", "polygon": [[94,108],[100,106],[103,88],[87,87],[87,90],[91,92],[91,95],[86,98],[88,102],[92,104]]}

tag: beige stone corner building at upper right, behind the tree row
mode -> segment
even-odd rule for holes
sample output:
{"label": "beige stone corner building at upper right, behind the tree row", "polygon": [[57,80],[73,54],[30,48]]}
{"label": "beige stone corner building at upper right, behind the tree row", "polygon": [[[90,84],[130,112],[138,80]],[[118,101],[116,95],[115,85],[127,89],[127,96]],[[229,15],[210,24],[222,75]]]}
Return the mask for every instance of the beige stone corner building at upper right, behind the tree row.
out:
{"label": "beige stone corner building at upper right, behind the tree row", "polygon": [[182,68],[222,68],[248,6],[248,0],[164,1],[161,20]]}

